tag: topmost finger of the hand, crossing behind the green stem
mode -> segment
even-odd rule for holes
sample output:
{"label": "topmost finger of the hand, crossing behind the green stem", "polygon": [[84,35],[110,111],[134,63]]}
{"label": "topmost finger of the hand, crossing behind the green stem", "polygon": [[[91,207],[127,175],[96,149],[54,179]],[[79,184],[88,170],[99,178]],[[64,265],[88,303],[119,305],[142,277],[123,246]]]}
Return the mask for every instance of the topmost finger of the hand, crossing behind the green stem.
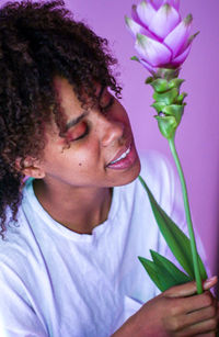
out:
{"label": "topmost finger of the hand, crossing behind the green stem", "polygon": [[[206,280],[203,284],[204,290],[208,290],[216,285],[218,281],[217,277],[212,277]],[[163,292],[166,297],[186,297],[197,293],[196,282],[192,281],[185,284],[175,285]]]}

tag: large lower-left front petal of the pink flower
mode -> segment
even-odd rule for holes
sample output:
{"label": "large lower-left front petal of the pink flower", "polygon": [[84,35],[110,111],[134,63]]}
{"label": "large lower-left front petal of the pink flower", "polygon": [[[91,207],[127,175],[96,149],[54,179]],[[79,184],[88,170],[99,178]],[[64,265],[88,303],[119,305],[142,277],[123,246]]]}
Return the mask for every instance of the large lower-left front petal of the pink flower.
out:
{"label": "large lower-left front petal of the pink flower", "polygon": [[141,34],[137,34],[135,47],[142,58],[153,67],[169,64],[172,56],[166,46]]}

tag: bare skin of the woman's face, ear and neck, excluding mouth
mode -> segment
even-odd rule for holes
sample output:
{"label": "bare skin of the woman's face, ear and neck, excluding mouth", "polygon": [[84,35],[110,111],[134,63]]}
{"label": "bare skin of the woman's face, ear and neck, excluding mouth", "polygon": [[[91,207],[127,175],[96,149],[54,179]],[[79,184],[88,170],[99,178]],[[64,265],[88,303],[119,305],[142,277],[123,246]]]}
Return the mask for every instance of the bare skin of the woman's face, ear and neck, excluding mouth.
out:
{"label": "bare skin of the woman's face, ear and neck, excluding mouth", "polygon": [[[26,158],[24,173],[39,178],[34,181],[34,191],[53,218],[77,233],[91,234],[107,218],[112,187],[136,179],[140,161],[128,115],[107,88],[96,86],[97,96],[102,90],[100,106],[84,111],[65,78],[55,78],[55,87],[69,145],[59,136],[55,122],[46,125],[42,157]],[[76,120],[79,122],[73,124]],[[130,143],[130,165],[119,170],[110,168],[107,165]]]}

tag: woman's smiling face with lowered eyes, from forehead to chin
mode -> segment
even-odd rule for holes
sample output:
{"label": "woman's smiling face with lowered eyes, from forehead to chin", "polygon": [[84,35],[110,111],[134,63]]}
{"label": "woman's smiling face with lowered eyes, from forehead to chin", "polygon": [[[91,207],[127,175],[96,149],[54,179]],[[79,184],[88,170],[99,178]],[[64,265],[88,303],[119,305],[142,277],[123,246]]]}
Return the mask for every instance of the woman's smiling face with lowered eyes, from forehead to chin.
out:
{"label": "woman's smiling face with lowered eyes, from forehead to chin", "polygon": [[140,170],[132,132],[123,105],[97,86],[100,106],[81,108],[68,80],[55,78],[58,100],[67,119],[67,139],[55,123],[46,131],[41,161],[43,179],[58,187],[105,188],[132,181]]}

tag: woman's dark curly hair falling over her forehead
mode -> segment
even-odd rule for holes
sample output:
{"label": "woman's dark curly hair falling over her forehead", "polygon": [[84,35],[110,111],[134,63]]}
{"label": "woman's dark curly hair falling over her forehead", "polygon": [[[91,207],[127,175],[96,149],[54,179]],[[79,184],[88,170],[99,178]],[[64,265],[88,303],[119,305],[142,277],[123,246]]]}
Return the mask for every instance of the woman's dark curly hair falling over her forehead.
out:
{"label": "woman's dark curly hair falling over her forehead", "polygon": [[[65,2],[8,2],[0,9],[0,234],[7,228],[7,209],[16,213],[22,200],[26,156],[43,150],[44,125],[55,116],[65,136],[56,100],[54,77],[68,79],[85,104],[84,94],[96,102],[94,82],[111,88],[116,97],[112,66],[116,64],[107,41],[84,23],[76,22]],[[51,109],[53,106],[53,109]]]}

